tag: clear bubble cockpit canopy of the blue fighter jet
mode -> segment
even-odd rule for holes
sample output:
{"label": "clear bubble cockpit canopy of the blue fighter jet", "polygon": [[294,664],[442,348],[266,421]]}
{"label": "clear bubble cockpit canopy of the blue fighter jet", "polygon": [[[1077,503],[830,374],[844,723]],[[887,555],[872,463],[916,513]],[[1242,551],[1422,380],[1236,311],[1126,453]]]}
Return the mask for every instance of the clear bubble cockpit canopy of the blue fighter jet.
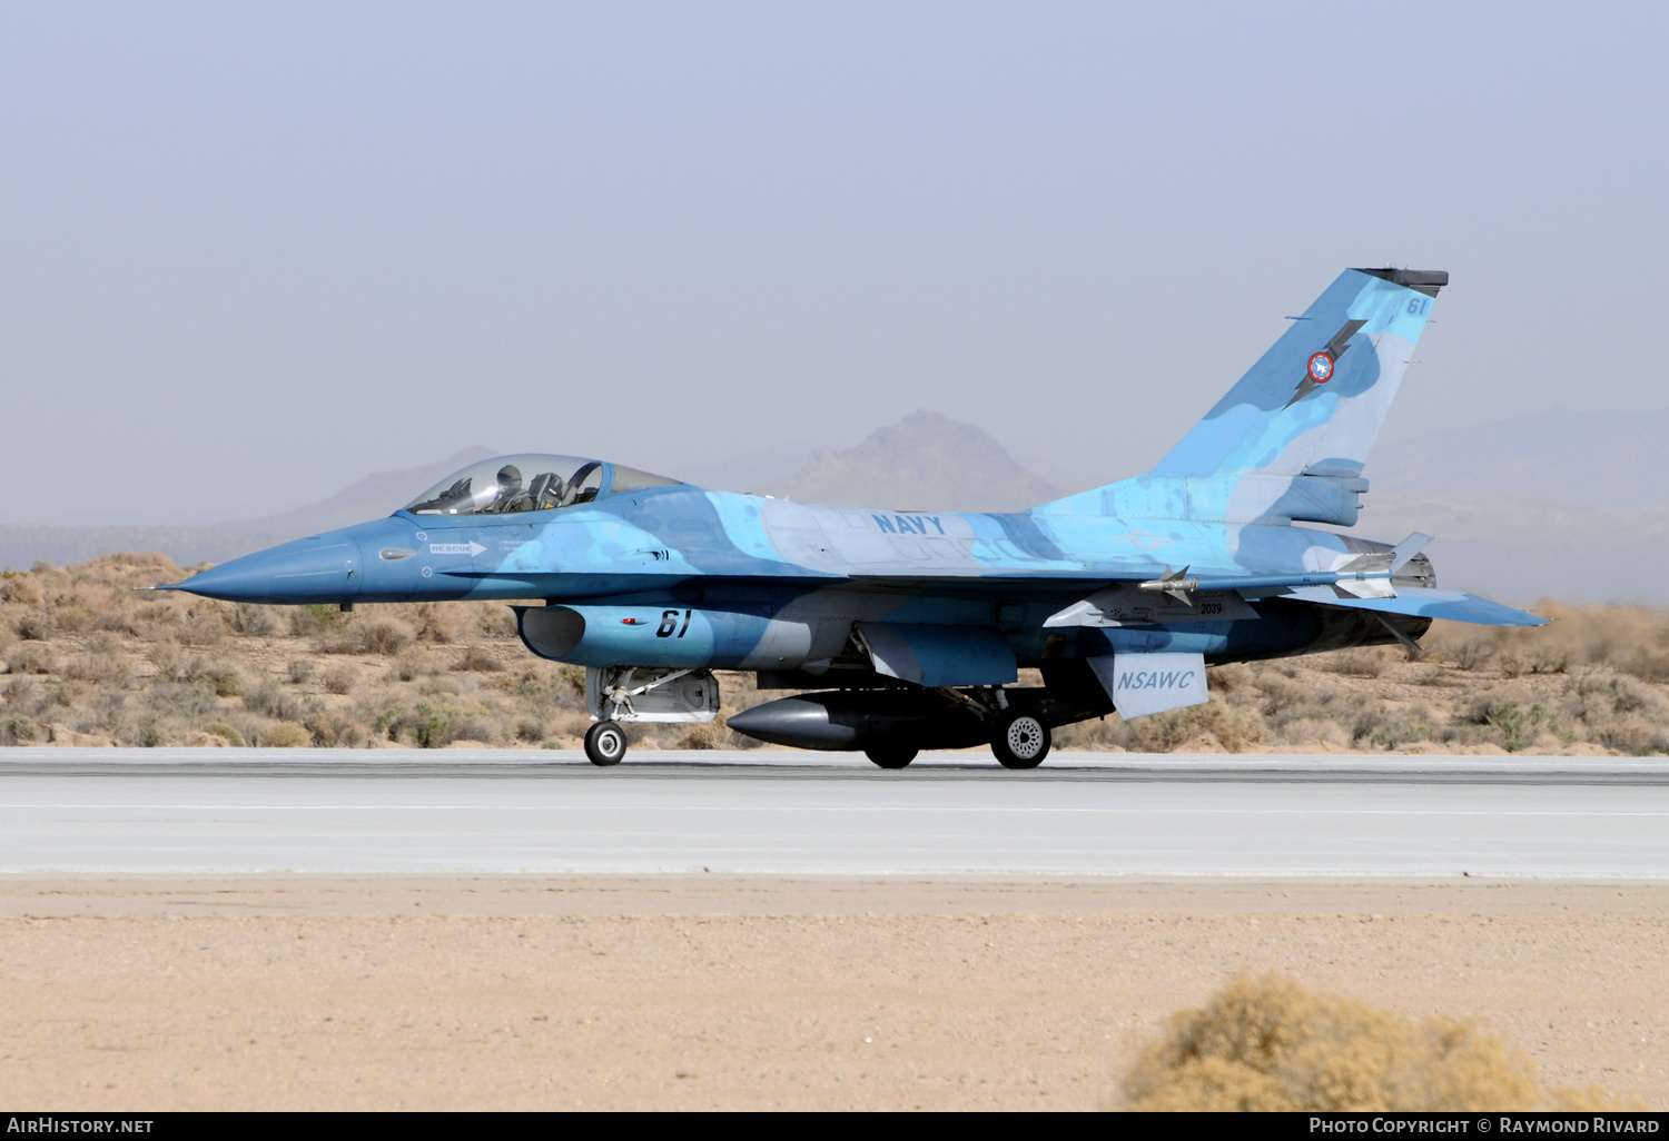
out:
{"label": "clear bubble cockpit canopy of the blue fighter jet", "polygon": [[572,455],[499,455],[447,475],[406,504],[404,510],[414,515],[509,515],[574,507],[603,495],[678,482]]}

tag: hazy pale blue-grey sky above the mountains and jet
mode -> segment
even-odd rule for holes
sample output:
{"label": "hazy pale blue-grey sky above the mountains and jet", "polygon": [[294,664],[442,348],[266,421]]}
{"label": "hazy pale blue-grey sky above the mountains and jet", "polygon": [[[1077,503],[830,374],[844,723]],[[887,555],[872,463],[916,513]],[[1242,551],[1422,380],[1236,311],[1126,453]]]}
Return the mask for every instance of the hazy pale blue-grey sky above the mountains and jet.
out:
{"label": "hazy pale blue-grey sky above the mountains and jet", "polygon": [[5,5],[0,522],[918,407],[1115,479],[1345,265],[1454,275],[1390,435],[1662,407],[1666,12]]}

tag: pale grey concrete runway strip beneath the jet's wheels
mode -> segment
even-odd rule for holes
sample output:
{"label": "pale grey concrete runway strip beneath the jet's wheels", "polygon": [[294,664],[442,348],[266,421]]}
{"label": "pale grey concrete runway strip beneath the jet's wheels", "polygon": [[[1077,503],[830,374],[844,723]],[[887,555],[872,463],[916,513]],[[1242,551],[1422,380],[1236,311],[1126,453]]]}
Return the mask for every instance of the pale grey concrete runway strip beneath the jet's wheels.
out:
{"label": "pale grey concrete runway strip beneath the jet's wheels", "polygon": [[0,749],[0,872],[1669,877],[1669,761]]}

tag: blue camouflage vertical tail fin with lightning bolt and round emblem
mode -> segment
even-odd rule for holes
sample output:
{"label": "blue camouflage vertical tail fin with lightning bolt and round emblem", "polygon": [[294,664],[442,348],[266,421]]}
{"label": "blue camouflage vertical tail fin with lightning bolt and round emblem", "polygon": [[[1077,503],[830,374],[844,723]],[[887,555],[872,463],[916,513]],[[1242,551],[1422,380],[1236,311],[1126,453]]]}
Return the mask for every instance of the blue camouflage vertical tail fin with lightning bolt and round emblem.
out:
{"label": "blue camouflage vertical tail fin with lightning bolt and round emblem", "polygon": [[1355,524],[1362,465],[1447,284],[1345,270],[1148,475],[1040,510]]}

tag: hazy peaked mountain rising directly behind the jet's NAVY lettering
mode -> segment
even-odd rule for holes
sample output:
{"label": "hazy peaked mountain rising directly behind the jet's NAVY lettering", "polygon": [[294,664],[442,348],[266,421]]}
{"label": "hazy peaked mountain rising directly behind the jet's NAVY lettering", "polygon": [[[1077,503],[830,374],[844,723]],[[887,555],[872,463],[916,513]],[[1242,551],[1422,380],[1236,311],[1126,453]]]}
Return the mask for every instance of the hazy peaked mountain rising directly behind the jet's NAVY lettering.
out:
{"label": "hazy peaked mountain rising directly behind the jet's NAVY lettering", "polygon": [[1025,510],[1065,494],[1016,464],[988,434],[938,412],[913,412],[845,452],[816,452],[793,475],[753,490],[896,510]]}

